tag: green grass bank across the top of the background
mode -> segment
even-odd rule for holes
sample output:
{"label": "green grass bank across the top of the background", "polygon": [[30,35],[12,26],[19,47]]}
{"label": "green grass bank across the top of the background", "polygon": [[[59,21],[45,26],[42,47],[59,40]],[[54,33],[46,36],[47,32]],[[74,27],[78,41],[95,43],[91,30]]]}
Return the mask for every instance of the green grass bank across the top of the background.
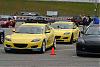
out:
{"label": "green grass bank across the top of the background", "polygon": [[[94,16],[93,3],[43,2],[28,0],[0,0],[0,14],[14,14],[20,11],[34,11],[46,15],[46,11],[58,11],[60,16],[86,14]],[[100,8],[100,4],[99,7]],[[100,9],[99,9],[100,11]],[[100,16],[100,13],[98,13]]]}

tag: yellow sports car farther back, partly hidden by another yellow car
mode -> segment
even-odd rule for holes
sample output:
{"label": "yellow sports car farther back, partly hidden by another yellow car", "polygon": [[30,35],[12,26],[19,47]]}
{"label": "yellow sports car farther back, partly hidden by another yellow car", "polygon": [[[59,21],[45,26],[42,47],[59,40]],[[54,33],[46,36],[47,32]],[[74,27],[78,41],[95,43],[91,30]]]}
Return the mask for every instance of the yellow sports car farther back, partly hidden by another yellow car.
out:
{"label": "yellow sports car farther back, partly hidden by another yellow car", "polygon": [[79,37],[80,30],[74,22],[55,22],[51,24],[51,27],[54,28],[57,42],[73,43]]}

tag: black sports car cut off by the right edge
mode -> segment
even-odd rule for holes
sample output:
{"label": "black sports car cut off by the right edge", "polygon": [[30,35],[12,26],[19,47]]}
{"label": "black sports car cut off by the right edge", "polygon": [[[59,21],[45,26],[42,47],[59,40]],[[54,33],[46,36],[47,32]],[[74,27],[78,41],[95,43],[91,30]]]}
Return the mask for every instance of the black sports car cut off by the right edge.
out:
{"label": "black sports car cut off by the right edge", "polygon": [[100,54],[100,25],[91,25],[76,43],[77,56]]}

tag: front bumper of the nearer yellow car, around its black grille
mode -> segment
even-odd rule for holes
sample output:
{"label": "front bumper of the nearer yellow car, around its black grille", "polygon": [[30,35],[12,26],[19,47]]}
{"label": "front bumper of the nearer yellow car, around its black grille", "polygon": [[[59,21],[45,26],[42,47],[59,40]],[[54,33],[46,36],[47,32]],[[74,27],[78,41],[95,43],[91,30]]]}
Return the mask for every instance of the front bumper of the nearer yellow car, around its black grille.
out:
{"label": "front bumper of the nearer yellow car, around its black grille", "polygon": [[12,49],[29,49],[33,51],[40,51],[42,46],[42,42],[29,42],[29,43],[13,43],[11,41],[5,41],[4,42],[4,48],[6,50],[12,50]]}

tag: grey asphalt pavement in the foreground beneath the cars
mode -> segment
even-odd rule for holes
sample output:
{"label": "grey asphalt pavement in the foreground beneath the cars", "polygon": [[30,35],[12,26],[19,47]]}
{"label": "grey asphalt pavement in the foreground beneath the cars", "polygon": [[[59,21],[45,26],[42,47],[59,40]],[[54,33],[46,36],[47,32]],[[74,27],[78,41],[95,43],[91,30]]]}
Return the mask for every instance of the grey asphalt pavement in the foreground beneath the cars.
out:
{"label": "grey asphalt pavement in the foreground beneath the cars", "polygon": [[75,44],[57,44],[55,53],[5,53],[2,45],[0,67],[100,67],[100,58],[76,56]]}

